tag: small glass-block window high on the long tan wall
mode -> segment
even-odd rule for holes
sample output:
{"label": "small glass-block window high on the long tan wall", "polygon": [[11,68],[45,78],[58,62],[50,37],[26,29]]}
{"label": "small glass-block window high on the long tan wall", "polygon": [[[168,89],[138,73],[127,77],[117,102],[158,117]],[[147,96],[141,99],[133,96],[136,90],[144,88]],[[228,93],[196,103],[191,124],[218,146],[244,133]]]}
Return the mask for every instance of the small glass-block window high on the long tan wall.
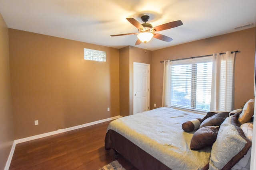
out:
{"label": "small glass-block window high on the long tan wall", "polygon": [[106,62],[106,52],[92,49],[84,49],[84,59],[92,61]]}

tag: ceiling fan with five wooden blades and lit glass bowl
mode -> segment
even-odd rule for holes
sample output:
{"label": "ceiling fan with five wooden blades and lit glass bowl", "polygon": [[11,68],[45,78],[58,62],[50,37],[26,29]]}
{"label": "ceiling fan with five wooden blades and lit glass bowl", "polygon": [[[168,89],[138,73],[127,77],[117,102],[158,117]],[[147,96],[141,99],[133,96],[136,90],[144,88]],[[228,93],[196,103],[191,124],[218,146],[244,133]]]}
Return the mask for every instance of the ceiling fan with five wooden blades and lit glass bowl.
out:
{"label": "ceiling fan with five wooden blades and lit glass bowl", "polygon": [[134,25],[136,28],[138,28],[138,33],[126,33],[126,34],[118,34],[118,35],[110,35],[112,37],[114,36],[120,36],[120,35],[132,35],[135,34],[138,37],[138,40],[136,41],[135,45],[139,45],[140,43],[147,43],[152,39],[152,37],[156,39],[160,39],[162,41],[170,42],[172,41],[172,38],[167,37],[165,35],[156,33],[157,31],[162,31],[165,29],[170,29],[174,27],[178,27],[180,25],[183,25],[182,21],[172,21],[169,23],[164,23],[162,25],[158,25],[156,27],[153,27],[150,23],[146,23],[149,20],[149,16],[144,15],[141,17],[141,20],[144,22],[140,24],[137,20],[134,18],[126,18],[132,25]]}

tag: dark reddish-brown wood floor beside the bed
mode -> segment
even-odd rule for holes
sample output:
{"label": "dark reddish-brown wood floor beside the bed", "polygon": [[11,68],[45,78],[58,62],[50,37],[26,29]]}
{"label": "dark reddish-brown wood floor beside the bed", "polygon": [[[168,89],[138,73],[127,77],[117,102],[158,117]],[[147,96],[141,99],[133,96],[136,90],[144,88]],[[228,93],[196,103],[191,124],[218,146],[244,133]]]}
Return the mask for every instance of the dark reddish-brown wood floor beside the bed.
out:
{"label": "dark reddish-brown wood floor beside the bed", "polygon": [[104,149],[108,122],[16,145],[9,170],[98,170],[118,160],[126,170],[137,170],[114,150]]}

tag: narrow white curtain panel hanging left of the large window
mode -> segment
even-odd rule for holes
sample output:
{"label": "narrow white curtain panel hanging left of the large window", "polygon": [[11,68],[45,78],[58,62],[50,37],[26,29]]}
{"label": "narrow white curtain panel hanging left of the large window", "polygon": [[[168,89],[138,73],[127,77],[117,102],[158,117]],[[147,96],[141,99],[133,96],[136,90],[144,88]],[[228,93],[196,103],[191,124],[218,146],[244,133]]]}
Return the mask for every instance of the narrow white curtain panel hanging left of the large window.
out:
{"label": "narrow white curtain panel hanging left of the large window", "polygon": [[171,107],[172,61],[164,61],[162,107]]}

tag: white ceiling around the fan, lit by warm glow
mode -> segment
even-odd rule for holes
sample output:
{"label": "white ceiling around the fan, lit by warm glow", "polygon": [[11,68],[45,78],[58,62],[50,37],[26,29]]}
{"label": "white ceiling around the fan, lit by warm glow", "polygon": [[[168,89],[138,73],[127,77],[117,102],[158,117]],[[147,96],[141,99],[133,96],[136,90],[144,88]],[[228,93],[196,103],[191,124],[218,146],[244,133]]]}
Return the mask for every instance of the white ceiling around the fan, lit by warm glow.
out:
{"label": "white ceiling around the fan, lit by warm glow", "polygon": [[0,13],[9,28],[118,49],[137,40],[136,35],[110,37],[138,32],[126,18],[143,23],[139,16],[150,14],[153,27],[181,20],[183,25],[158,32],[171,42],[146,43],[156,50],[255,27],[256,0],[0,0]]}

